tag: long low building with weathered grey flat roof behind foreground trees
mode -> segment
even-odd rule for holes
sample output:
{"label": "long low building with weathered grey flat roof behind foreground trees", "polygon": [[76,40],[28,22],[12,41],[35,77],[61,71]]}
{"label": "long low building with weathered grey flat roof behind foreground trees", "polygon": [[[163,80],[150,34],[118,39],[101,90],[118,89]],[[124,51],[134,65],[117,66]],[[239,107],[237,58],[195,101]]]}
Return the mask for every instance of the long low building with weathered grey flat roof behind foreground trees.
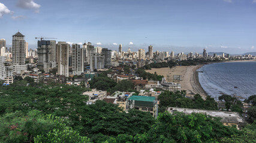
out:
{"label": "long low building with weathered grey flat roof behind foreground trees", "polygon": [[183,112],[185,114],[192,114],[192,113],[200,113],[206,114],[207,116],[212,117],[221,117],[221,122],[224,126],[236,126],[239,129],[240,125],[243,125],[245,121],[237,112],[230,112],[230,111],[218,111],[218,110],[199,110],[199,109],[192,109],[192,108],[176,108],[176,107],[168,107],[167,111],[173,113],[174,111]]}

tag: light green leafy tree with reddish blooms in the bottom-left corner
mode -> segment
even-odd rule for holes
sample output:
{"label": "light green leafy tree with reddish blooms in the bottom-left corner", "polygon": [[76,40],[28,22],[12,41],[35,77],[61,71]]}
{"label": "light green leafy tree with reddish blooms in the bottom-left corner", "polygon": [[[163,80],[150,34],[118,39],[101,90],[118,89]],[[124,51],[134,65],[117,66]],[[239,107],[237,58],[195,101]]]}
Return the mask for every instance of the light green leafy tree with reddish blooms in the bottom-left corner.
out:
{"label": "light green leafy tree with reddish blooms in the bottom-left corner", "polygon": [[0,119],[0,142],[34,142],[35,136],[64,127],[58,117],[43,116],[37,110],[27,114],[22,111],[6,113]]}

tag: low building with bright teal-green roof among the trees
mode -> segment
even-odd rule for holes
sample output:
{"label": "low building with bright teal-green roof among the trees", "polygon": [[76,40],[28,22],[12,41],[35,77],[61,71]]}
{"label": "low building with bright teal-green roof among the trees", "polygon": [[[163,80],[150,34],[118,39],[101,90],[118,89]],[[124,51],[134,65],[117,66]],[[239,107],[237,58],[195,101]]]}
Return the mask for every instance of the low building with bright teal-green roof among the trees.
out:
{"label": "low building with bright teal-green roof among the trees", "polygon": [[148,111],[155,118],[158,116],[158,105],[155,97],[132,95],[127,100],[127,109],[132,108],[140,111]]}

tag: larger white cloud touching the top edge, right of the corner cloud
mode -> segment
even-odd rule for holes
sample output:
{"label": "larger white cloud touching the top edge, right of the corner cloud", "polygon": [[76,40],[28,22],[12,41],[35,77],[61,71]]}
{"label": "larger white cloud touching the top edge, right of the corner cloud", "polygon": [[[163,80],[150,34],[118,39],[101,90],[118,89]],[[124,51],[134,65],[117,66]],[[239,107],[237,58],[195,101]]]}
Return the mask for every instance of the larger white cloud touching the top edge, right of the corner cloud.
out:
{"label": "larger white cloud touching the top edge, right of the corner cloud", "polygon": [[34,0],[18,0],[17,7],[24,9],[35,10],[35,13],[39,13],[41,5],[34,2]]}

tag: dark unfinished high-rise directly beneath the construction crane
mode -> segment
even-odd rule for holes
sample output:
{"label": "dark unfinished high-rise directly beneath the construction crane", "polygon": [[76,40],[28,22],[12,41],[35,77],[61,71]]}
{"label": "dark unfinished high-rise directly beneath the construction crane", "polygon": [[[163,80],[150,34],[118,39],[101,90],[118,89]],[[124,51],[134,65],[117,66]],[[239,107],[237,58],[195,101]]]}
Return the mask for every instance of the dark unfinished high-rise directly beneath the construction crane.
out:
{"label": "dark unfinished high-rise directly beneath the construction crane", "polygon": [[37,67],[49,73],[50,69],[50,41],[37,41],[38,63]]}

